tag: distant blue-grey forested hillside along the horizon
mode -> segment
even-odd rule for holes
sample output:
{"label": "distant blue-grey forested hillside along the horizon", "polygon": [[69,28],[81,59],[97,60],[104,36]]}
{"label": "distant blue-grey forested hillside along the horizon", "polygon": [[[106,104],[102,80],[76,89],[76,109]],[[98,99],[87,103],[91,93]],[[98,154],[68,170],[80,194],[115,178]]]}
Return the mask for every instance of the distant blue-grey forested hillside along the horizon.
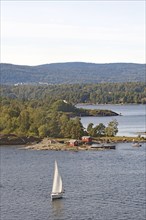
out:
{"label": "distant blue-grey forested hillside along the horizon", "polygon": [[54,63],[39,66],[0,64],[1,84],[143,82],[145,64]]}

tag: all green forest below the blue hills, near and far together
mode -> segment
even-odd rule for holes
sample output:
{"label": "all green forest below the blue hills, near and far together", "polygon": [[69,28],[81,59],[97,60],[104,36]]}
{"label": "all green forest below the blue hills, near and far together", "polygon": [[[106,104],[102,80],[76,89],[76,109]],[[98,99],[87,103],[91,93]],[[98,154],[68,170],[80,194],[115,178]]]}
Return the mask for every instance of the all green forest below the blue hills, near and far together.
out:
{"label": "all green forest below the blue hills, near and far together", "polygon": [[0,133],[18,136],[80,138],[115,136],[117,121],[89,124],[83,127],[81,116],[110,116],[107,110],[85,110],[77,103],[146,104],[144,82],[64,84],[64,85],[2,85]]}

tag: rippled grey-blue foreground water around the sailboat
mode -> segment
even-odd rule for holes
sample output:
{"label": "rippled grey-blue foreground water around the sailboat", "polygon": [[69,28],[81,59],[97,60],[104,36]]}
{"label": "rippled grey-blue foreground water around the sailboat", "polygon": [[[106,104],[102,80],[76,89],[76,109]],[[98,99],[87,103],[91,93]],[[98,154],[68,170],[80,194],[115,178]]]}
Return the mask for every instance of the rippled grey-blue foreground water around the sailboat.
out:
{"label": "rippled grey-blue foreground water around the sailboat", "polygon": [[[2,146],[1,220],[144,220],[145,150],[129,143],[77,153]],[[55,159],[65,197],[52,203]]]}

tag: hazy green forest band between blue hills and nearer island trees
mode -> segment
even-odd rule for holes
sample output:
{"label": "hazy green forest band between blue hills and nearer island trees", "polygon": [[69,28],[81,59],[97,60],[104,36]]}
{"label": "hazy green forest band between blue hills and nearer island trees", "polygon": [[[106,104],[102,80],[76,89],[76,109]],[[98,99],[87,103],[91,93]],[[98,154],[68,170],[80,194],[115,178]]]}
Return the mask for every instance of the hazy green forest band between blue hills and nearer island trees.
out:
{"label": "hazy green forest band between blue hills and nearer island trees", "polygon": [[66,100],[72,104],[146,104],[145,82],[64,84],[64,85],[17,85],[0,88],[2,97],[11,99]]}

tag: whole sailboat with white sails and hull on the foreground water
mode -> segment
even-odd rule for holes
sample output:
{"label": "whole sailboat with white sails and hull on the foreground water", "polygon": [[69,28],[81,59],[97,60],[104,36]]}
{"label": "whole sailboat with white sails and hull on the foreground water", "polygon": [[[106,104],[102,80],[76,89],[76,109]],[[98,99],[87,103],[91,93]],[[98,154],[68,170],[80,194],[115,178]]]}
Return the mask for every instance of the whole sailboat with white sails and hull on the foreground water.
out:
{"label": "whole sailboat with white sails and hull on the foreground water", "polygon": [[54,199],[61,199],[62,196],[63,196],[62,178],[58,171],[57,161],[55,160],[51,200],[53,201]]}

